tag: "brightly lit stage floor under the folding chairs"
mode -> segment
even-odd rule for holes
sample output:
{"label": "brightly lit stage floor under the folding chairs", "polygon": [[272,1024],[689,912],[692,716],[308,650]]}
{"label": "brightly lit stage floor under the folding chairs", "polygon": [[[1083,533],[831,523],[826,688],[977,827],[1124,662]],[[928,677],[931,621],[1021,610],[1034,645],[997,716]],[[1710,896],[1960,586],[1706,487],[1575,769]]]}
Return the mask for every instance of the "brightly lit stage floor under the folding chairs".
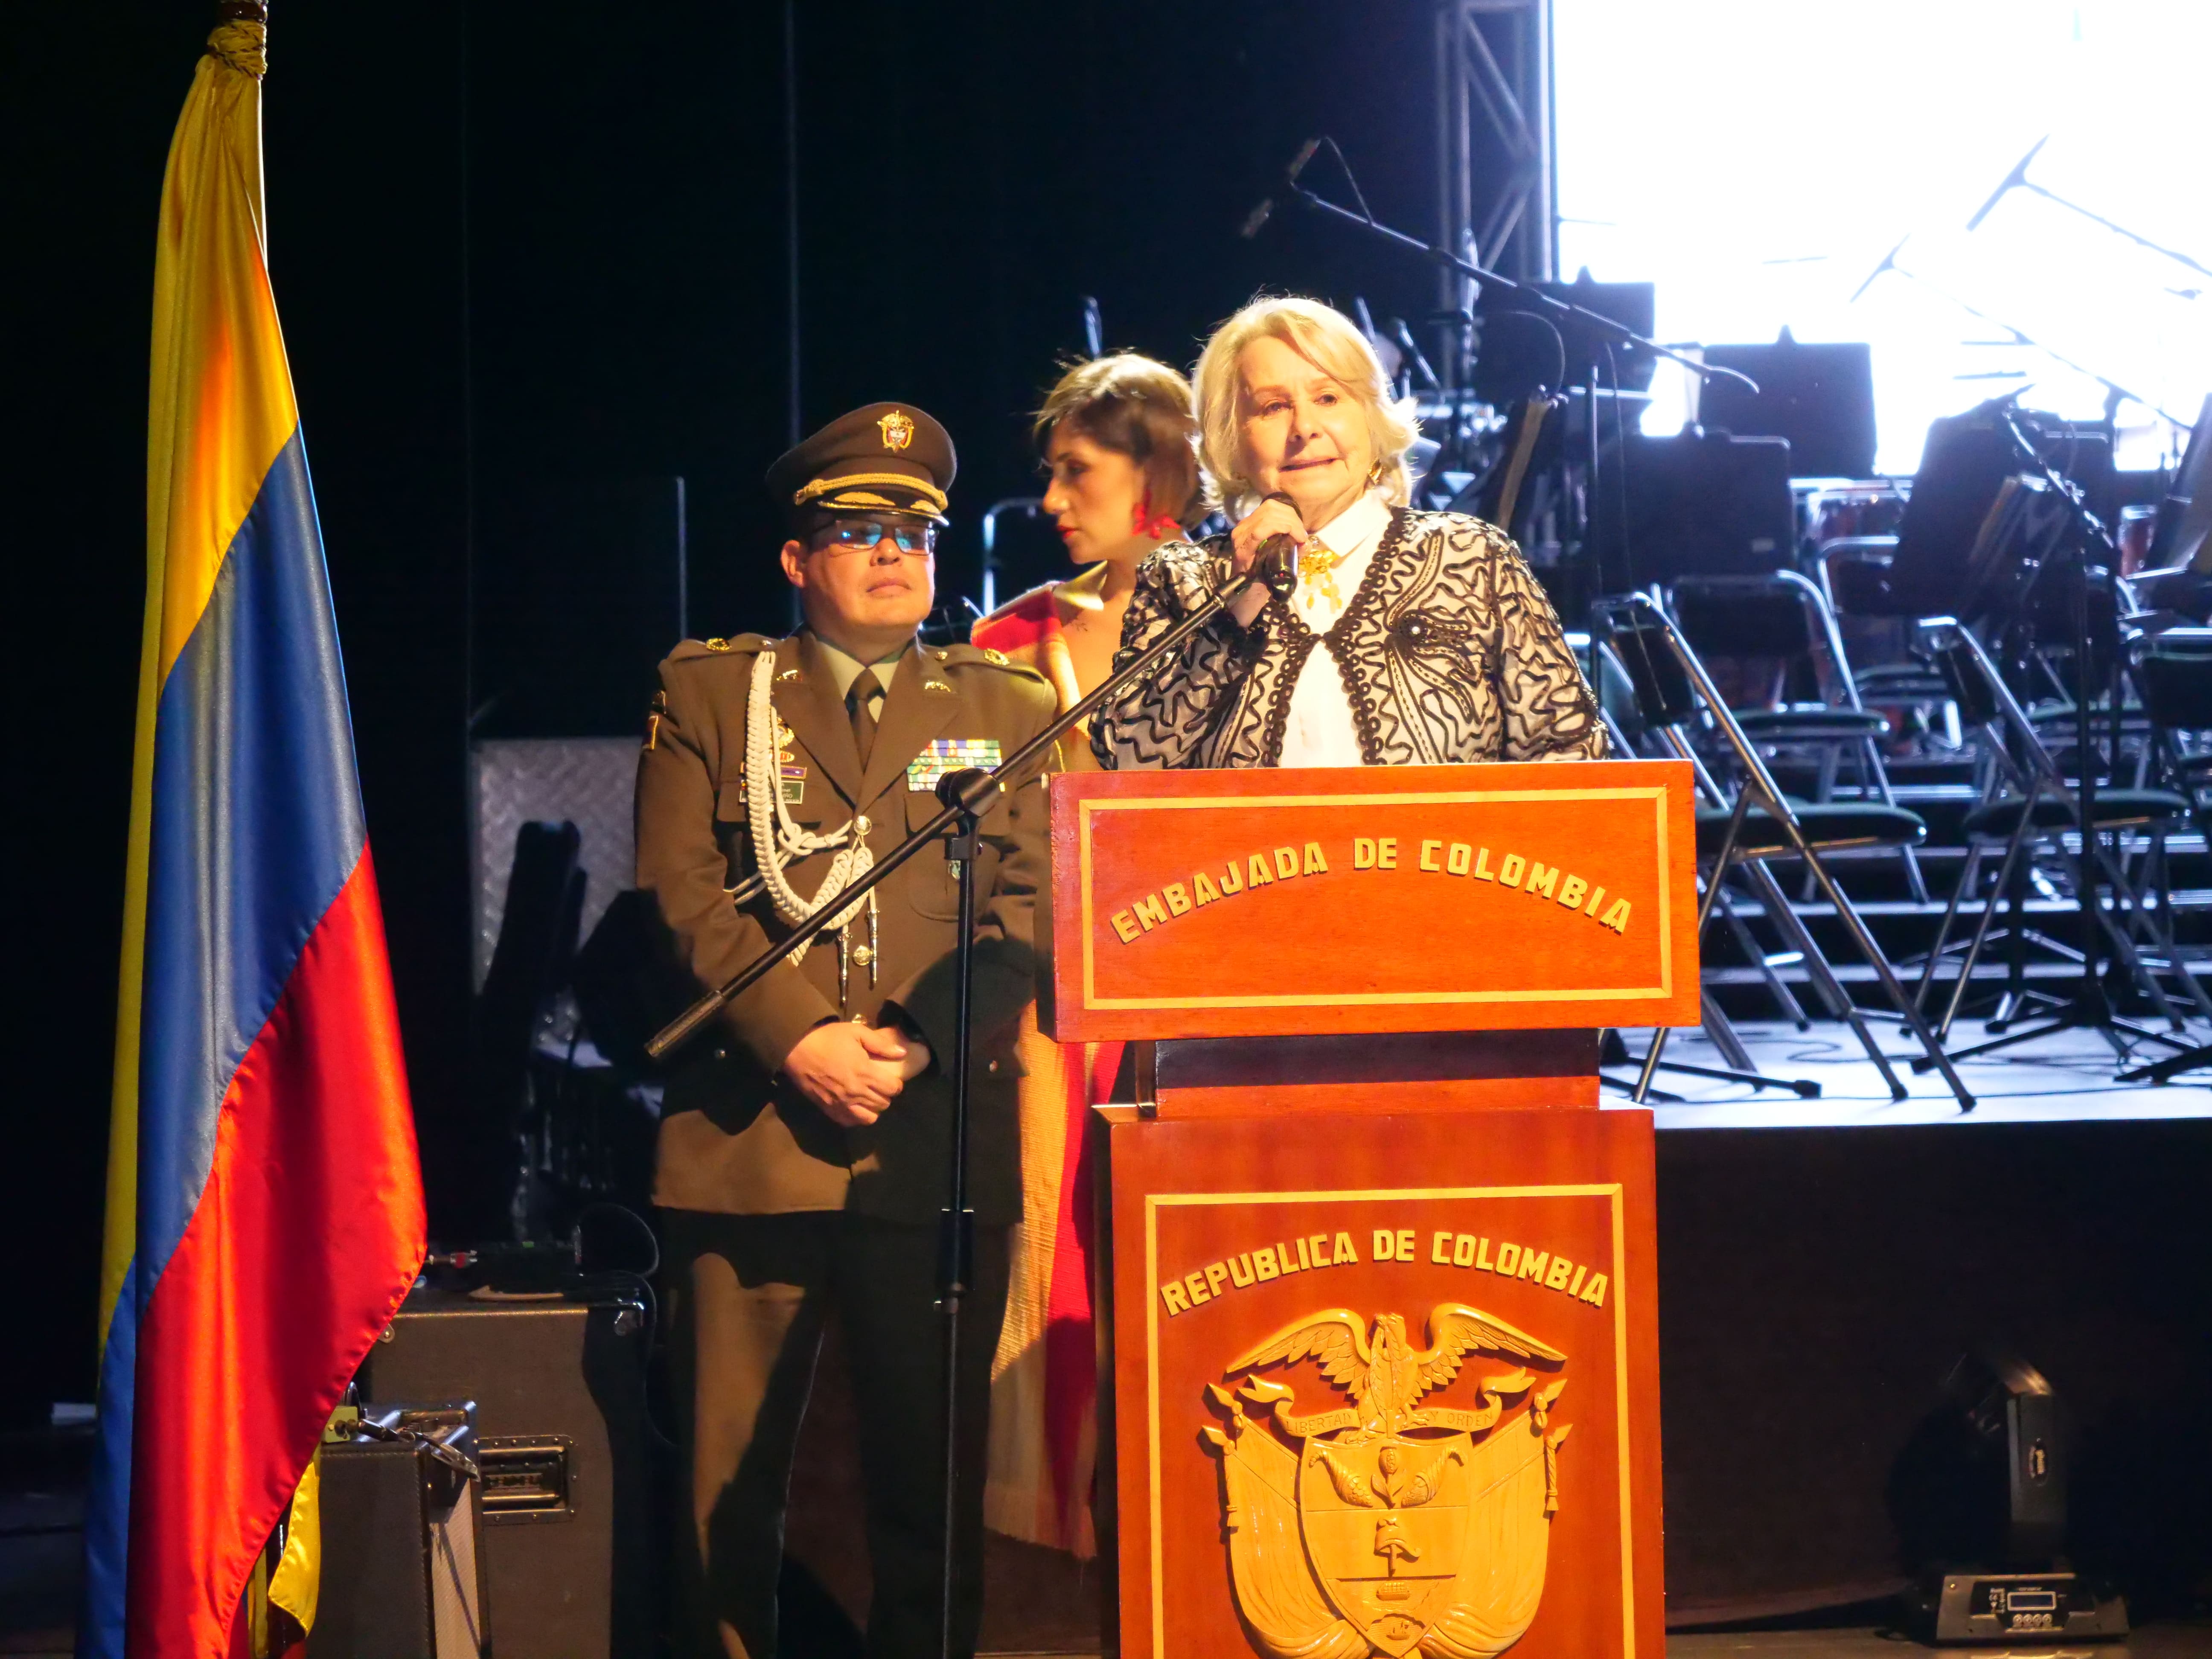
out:
{"label": "brightly lit stage floor under the folding chairs", "polygon": [[[1816,1020],[1812,1031],[1785,1022],[1739,1022],[1736,1033],[1767,1077],[1812,1079],[1820,1084],[1818,1099],[1801,1099],[1787,1088],[1754,1091],[1747,1084],[1694,1077],[1661,1066],[1657,1088],[1679,1095],[1679,1104],[1652,1095],[1657,1126],[1674,1128],[1891,1128],[1902,1124],[2070,1124],[2119,1121],[2139,1117],[2212,1117],[2212,1066],[2166,1084],[2119,1084],[2112,1073],[2124,1064],[2112,1046],[2093,1031],[2059,1031],[1986,1060],[1960,1062],[1960,1075],[1975,1095],[1971,1115],[1960,1115],[1958,1102],[1936,1073],[1916,1075],[1913,1051],[1898,1022],[1871,1022],[1882,1051],[1891,1055],[1898,1077],[1911,1091],[1909,1099],[1891,1099],[1874,1062],[1851,1031],[1832,1020]],[[1648,1031],[1624,1033],[1628,1048],[1644,1055]],[[2192,1024],[2190,1042],[2212,1040],[2212,1031]],[[1962,1020],[1951,1031],[1951,1048],[1982,1042],[1982,1022]],[[2161,1044],[2141,1044],[2141,1060],[2166,1053]],[[1703,1031],[1677,1031],[1663,1060],[1692,1066],[1725,1066]],[[2141,1062],[2128,1062],[2141,1064]],[[1632,1066],[1613,1066],[1608,1077],[1635,1082]],[[1608,1088],[1604,1104],[1626,1104],[1626,1093]]]}

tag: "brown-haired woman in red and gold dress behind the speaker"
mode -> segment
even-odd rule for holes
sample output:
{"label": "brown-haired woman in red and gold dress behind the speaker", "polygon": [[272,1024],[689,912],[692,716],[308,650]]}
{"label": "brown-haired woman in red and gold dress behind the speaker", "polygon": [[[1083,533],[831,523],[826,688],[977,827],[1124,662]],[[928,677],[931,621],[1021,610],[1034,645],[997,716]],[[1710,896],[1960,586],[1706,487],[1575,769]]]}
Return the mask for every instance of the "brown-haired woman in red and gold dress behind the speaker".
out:
{"label": "brown-haired woman in red and gold dress behind the speaker", "polygon": [[[1106,679],[1137,566],[1203,511],[1190,383],[1166,363],[1115,352],[1071,367],[1037,409],[1048,469],[1044,511],[1084,566],[975,624],[973,644],[1035,668],[1068,708]],[[1091,770],[1077,734],[1068,768]],[[1121,1044],[1062,1048],[1022,1015],[1022,1223],[991,1365],[984,1524],[1029,1544],[1097,1555],[1097,1336],[1091,1307],[1091,1102],[1104,1099]]]}

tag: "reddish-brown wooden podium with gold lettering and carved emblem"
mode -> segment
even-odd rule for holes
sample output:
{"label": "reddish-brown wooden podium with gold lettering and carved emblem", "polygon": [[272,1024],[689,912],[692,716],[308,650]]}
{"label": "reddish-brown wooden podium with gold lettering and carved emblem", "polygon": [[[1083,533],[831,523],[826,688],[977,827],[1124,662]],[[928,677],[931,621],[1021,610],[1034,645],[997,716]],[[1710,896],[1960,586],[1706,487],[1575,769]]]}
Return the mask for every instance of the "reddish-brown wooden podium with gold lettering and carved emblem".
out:
{"label": "reddish-brown wooden podium with gold lettering and carved emblem", "polygon": [[1661,1659],[1652,1119],[1597,1026],[1699,1018],[1688,765],[1051,787],[1044,1022],[1130,1042],[1108,1652]]}

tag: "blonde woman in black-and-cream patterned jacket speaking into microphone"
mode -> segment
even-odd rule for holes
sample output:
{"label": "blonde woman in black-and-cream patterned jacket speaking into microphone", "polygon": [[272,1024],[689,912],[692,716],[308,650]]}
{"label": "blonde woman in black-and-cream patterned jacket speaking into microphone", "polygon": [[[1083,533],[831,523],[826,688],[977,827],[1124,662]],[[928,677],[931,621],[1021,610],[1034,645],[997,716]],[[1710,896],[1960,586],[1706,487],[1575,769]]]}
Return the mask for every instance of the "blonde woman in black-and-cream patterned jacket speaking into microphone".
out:
{"label": "blonde woman in black-and-cream patterned jacket speaking into microphone", "polygon": [[1108,703],[1104,768],[1586,761],[1606,728],[1513,540],[1413,511],[1416,427],[1367,336],[1310,299],[1223,323],[1197,372],[1208,491],[1228,535],[1168,542],[1121,622],[1128,661],[1263,542],[1298,542],[1298,588],[1261,588]]}

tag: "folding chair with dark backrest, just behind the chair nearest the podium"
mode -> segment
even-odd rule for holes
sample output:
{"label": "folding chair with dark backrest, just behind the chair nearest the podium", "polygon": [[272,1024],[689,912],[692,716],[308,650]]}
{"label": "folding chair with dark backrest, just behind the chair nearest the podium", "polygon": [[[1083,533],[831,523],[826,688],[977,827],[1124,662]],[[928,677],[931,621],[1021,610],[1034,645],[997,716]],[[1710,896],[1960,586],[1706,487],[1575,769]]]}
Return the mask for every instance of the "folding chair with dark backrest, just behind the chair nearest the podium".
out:
{"label": "folding chair with dark backrest, just behind the chair nearest the podium", "polygon": [[[1736,657],[1809,659],[1820,684],[1818,703],[1785,701],[1785,686],[1776,686],[1772,697],[1776,706],[1730,710],[1736,726],[1754,743],[1816,750],[1820,757],[1816,803],[1836,799],[1836,770],[1849,754],[1858,770],[1860,799],[1880,796],[1882,805],[1898,805],[1880,750],[1889,737],[1889,717],[1860,701],[1843,633],[1818,586],[1796,571],[1683,577],[1674,584],[1668,613],[1701,657],[1719,650]],[[1823,659],[1825,675],[1818,672]],[[1913,847],[1900,845],[1898,856],[1913,902],[1929,902]]]}

